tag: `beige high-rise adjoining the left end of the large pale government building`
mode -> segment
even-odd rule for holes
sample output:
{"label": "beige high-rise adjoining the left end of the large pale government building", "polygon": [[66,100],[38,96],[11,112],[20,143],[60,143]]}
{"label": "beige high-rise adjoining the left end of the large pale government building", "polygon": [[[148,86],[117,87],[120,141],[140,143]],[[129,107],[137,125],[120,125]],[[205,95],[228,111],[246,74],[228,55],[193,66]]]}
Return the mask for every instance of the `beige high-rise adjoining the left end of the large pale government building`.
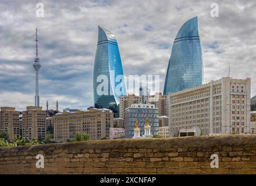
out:
{"label": "beige high-rise adjoining the left end of the large pale government building", "polygon": [[159,116],[169,116],[168,95],[155,93],[155,95],[147,96],[147,104],[154,104],[155,108],[158,108]]}

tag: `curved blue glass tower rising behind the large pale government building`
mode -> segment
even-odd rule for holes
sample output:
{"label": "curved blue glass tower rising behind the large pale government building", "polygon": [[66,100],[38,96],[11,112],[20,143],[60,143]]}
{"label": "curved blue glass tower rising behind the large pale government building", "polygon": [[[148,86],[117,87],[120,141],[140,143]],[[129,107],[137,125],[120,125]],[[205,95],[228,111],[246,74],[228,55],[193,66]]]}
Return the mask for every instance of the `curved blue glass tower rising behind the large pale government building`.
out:
{"label": "curved blue glass tower rising behind the large pale government building", "polygon": [[194,17],[183,24],[173,42],[163,94],[201,85],[202,77],[202,49]]}

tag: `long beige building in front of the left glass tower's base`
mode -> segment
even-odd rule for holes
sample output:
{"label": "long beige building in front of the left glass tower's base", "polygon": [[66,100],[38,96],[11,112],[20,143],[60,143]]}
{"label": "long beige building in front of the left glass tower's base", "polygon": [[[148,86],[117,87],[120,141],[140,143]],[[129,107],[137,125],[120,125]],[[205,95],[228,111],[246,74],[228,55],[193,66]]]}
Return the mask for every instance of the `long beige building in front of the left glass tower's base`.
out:
{"label": "long beige building in front of the left glass tower's base", "polygon": [[113,127],[113,113],[109,109],[88,108],[76,112],[58,113],[54,121],[54,140],[66,142],[77,133],[90,134],[90,140],[109,139],[109,128]]}

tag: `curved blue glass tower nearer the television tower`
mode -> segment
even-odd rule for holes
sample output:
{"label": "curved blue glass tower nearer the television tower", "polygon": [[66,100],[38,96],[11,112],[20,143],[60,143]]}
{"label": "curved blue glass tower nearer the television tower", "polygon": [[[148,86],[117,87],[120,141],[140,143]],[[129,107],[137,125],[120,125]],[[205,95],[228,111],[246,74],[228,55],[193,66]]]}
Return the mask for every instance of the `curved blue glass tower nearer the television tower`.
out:
{"label": "curved blue glass tower nearer the television tower", "polygon": [[[105,80],[108,81],[107,87],[102,88]],[[102,95],[101,91],[105,93]],[[94,60],[93,93],[95,108],[111,109],[114,113],[118,113],[119,97],[126,95],[123,67],[115,35],[100,26]]]}

